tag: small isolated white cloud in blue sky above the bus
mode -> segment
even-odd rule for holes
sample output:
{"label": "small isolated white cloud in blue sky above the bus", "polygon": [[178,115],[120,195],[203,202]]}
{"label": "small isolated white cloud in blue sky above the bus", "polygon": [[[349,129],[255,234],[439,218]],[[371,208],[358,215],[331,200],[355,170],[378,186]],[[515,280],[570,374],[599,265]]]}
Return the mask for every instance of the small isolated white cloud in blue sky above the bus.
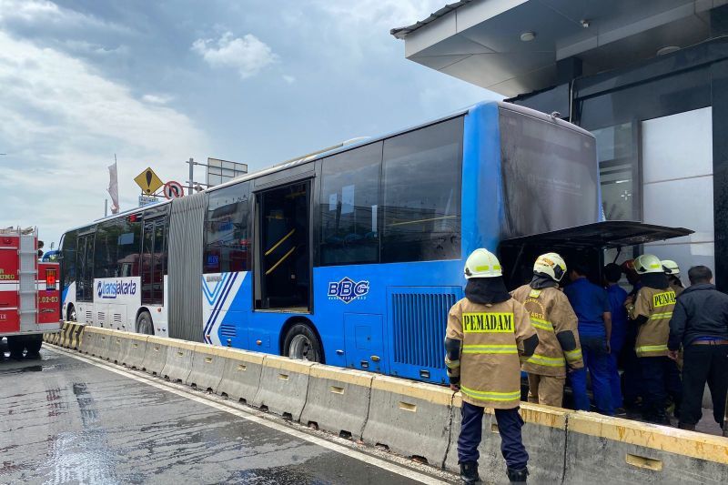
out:
{"label": "small isolated white cloud in blue sky above the bus", "polygon": [[270,47],[252,34],[234,37],[231,32],[226,32],[217,41],[197,39],[192,44],[192,51],[202,56],[209,66],[238,69],[242,79],[255,76],[264,67],[278,61]]}

